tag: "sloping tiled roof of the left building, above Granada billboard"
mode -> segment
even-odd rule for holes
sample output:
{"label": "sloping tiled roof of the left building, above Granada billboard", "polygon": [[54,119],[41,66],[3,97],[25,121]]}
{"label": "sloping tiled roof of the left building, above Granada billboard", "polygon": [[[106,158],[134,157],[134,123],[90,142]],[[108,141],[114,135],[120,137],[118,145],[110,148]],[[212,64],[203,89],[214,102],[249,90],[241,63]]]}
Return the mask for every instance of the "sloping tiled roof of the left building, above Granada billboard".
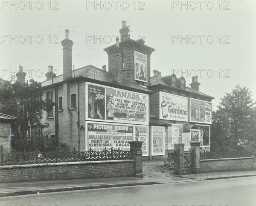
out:
{"label": "sloping tiled roof of the left building, above Granada billboard", "polygon": [[[72,71],[72,77],[74,77],[74,72]],[[90,78],[92,80],[98,80],[98,81],[102,81],[102,83],[111,83],[114,85],[116,85],[117,87],[119,86],[118,83],[116,83],[114,81],[114,76],[113,74],[110,74],[108,72],[103,71],[102,69],[99,69],[95,66],[92,65],[88,65],[88,66],[84,66],[81,67],[79,69],[75,69],[75,77],[86,77],[86,78]],[[63,74],[60,74],[56,77],[53,78],[53,83],[61,83],[63,81]],[[44,82],[41,82],[42,87],[44,86],[49,86],[52,84],[52,79],[50,80],[46,80]],[[125,86],[127,88],[133,88],[133,89],[138,89],[138,90],[142,90],[145,92],[152,92],[149,89],[146,89],[142,86],[139,86],[135,83],[129,82],[127,80],[122,79],[122,84],[120,84],[120,86]]]}

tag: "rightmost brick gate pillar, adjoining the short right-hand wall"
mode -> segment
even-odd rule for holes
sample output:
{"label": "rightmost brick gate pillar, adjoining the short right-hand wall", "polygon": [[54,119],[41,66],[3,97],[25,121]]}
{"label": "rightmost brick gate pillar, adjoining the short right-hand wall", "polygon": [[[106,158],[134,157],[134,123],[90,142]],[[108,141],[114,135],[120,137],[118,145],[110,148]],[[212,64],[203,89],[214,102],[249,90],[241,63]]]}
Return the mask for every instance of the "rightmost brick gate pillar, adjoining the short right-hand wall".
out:
{"label": "rightmost brick gate pillar, adjoining the short right-hand wall", "polygon": [[201,142],[189,142],[189,143],[191,148],[191,172],[199,173],[201,170],[201,167],[200,167]]}

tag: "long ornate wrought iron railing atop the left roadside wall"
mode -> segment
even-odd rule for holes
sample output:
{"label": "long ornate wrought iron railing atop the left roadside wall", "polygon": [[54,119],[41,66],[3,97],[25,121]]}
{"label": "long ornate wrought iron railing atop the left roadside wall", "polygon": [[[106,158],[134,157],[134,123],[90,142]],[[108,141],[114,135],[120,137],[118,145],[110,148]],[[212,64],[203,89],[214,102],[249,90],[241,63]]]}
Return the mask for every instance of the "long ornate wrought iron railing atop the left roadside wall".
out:
{"label": "long ornate wrought iron railing atop the left roadside wall", "polygon": [[1,154],[1,165],[35,164],[35,163],[58,163],[58,162],[78,162],[95,160],[125,160],[131,159],[131,152],[118,149],[93,151],[91,148],[86,152],[78,152],[74,148],[70,152],[17,152],[15,149],[11,153]]}

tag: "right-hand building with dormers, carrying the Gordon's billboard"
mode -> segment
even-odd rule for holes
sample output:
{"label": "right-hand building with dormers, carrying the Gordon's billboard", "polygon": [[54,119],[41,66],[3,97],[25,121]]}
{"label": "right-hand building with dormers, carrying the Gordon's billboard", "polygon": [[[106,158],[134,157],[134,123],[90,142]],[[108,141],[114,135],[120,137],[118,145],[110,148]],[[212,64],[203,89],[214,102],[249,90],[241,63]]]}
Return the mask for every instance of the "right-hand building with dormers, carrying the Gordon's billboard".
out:
{"label": "right-hand building with dormers, carrying the Gordon's billboard", "polygon": [[[209,150],[212,123],[210,102],[214,97],[199,91],[198,77],[192,77],[191,87],[188,87],[184,77],[177,78],[175,74],[161,77],[161,72],[153,72],[154,76],[147,86],[154,91],[150,96],[151,135],[154,136],[155,130],[164,143],[161,142],[158,149],[151,145],[151,150],[155,151],[152,155],[167,154],[174,149],[175,143],[184,143],[185,151],[188,151],[189,141],[193,138],[201,141],[201,148]],[[192,134],[197,134],[197,137]]]}

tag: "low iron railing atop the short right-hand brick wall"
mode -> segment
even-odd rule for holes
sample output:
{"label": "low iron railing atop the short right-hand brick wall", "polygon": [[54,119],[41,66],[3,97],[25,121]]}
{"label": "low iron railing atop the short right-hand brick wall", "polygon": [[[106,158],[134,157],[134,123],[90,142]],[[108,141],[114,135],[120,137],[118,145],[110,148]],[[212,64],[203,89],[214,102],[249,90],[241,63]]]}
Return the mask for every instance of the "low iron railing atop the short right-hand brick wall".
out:
{"label": "low iron railing atop the short right-hand brick wall", "polygon": [[222,158],[236,158],[236,157],[251,157],[251,152],[200,152],[200,159],[222,159]]}

